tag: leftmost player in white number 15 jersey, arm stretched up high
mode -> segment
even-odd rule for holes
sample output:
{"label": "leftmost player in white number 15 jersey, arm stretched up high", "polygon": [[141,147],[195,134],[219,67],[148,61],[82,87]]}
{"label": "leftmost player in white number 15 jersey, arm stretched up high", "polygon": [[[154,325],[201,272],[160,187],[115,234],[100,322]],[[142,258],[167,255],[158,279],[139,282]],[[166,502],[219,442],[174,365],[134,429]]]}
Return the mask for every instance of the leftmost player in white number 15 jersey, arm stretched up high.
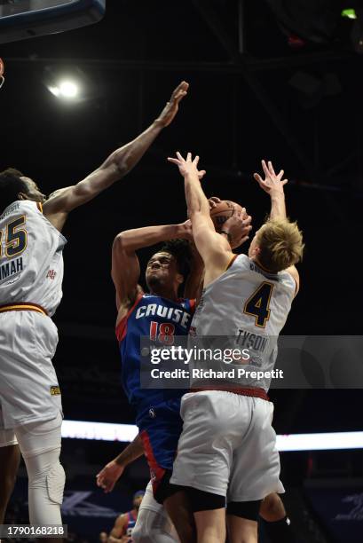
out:
{"label": "leftmost player in white number 15 jersey, arm stretched up high", "polygon": [[77,185],[48,200],[21,172],[0,174],[0,523],[12,492],[19,452],[29,479],[32,524],[60,524],[65,483],[59,463],[60,390],[51,364],[58,333],[51,320],[63,278],[60,233],[67,215],[124,177],[172,122],[188,84],[159,117]]}

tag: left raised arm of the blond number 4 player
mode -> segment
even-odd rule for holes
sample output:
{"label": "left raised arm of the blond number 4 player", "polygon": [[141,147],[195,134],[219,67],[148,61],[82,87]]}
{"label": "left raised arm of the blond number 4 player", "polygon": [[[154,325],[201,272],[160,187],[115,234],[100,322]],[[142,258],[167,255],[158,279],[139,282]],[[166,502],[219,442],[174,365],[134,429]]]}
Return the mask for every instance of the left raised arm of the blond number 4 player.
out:
{"label": "left raised arm of the blond number 4 player", "polygon": [[[178,165],[181,175],[185,179],[185,200],[188,208],[188,216],[192,221],[193,239],[205,266],[204,286],[216,279],[229,264],[233,252],[228,240],[224,235],[216,232],[209,213],[209,201],[201,188],[199,179],[198,161],[196,156],[192,161],[191,153],[187,154],[186,161],[180,153],[178,158],[169,158],[170,162]],[[241,219],[241,220],[240,220]],[[237,223],[231,227],[229,235],[241,234],[241,243],[247,239],[249,222],[244,217],[238,217]],[[246,228],[248,231],[246,232]],[[238,234],[237,234],[238,232]],[[239,243],[239,245],[241,245]]]}

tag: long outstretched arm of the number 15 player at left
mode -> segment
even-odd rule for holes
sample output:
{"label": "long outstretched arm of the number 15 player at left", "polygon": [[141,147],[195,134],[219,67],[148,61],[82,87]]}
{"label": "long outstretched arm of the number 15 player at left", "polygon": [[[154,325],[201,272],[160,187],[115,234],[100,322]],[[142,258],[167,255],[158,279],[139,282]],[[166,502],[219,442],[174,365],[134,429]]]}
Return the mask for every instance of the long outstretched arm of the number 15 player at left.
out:
{"label": "long outstretched arm of the number 15 player at left", "polygon": [[56,228],[62,229],[67,214],[72,209],[91,201],[129,173],[161,130],[172,122],[178,113],[179,102],[185,97],[188,86],[188,83],[185,82],[178,85],[159,117],[138,138],[116,149],[98,169],[95,169],[76,185],[59,189],[51,194],[49,200],[43,205],[43,213]]}

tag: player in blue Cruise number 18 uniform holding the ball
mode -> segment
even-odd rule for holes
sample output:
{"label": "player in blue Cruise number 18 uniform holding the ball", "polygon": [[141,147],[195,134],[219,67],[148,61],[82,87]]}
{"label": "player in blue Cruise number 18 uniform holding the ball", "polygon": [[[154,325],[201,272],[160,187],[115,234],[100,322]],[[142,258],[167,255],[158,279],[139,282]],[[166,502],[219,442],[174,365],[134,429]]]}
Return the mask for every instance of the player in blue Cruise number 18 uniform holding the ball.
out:
{"label": "player in blue Cruise number 18 uniform holding the ball", "polygon": [[[201,172],[201,177],[204,172]],[[179,238],[181,240],[173,240]],[[114,240],[112,278],[116,289],[116,336],[122,357],[122,384],[130,404],[135,407],[139,436],[134,443],[137,458],[141,446],[146,454],[154,497],[165,508],[172,520],[190,526],[190,514],[179,503],[180,496],[169,497],[169,478],[178,437],[182,428],[179,415],[181,390],[146,390],[140,387],[140,337],[147,336],[161,344],[170,344],[174,335],[185,335],[193,318],[195,300],[181,299],[180,286],[185,281],[187,261],[190,260],[190,221],[184,224],[148,226],[121,232]],[[140,267],[136,250],[167,242],[155,253],[146,266],[149,294],[138,285]],[[187,249],[187,252],[185,251]],[[194,261],[195,262],[195,261]],[[193,264],[192,264],[193,266]],[[194,267],[193,277],[185,285],[185,295],[196,293],[200,285],[201,262]],[[102,481],[98,481],[102,486]],[[175,505],[177,504],[177,506]],[[185,519],[183,515],[187,515]],[[192,541],[189,532],[185,541]]]}

